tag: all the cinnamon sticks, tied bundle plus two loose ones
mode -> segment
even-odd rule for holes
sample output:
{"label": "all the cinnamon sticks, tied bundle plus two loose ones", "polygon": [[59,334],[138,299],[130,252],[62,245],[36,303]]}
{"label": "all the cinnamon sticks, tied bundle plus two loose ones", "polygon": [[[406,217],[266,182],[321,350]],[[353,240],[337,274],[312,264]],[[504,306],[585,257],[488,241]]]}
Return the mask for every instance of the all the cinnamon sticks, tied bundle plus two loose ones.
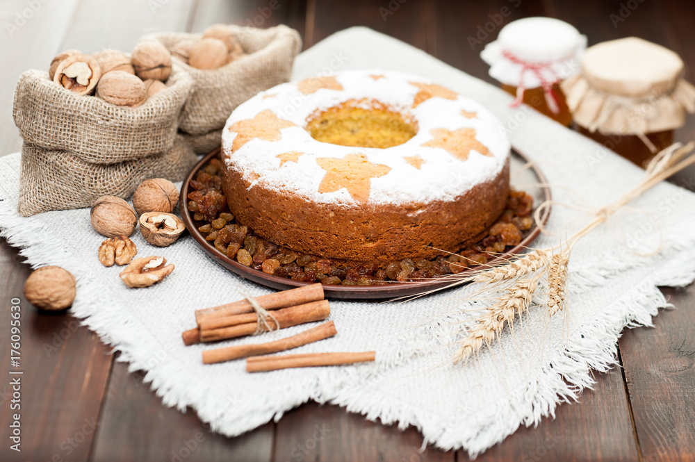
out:
{"label": "all the cinnamon sticks, tied bundle plus two loose ones", "polygon": [[[268,313],[268,317],[261,324],[259,324],[261,315],[257,312],[259,308]],[[183,332],[183,343],[194,345],[201,342],[250,336],[263,331],[284,329],[306,322],[325,320],[330,313],[329,303],[324,299],[323,286],[316,283],[262,295],[255,299],[243,299],[234,303],[198,310],[195,312],[197,326]],[[258,356],[307,345],[332,337],[336,333],[334,322],[329,321],[275,342],[208,350],[203,352],[203,363],[221,363],[252,356],[247,359],[246,370],[248,372],[261,372],[375,361],[375,352]]]}

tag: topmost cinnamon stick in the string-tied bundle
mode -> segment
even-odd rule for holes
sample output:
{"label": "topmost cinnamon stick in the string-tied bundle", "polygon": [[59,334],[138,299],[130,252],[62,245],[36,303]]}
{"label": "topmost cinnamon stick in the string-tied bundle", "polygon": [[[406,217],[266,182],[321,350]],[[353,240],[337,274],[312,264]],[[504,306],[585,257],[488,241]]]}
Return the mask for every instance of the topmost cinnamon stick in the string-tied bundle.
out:
{"label": "topmost cinnamon stick in the string-tied bundle", "polygon": [[[287,308],[309,302],[316,302],[323,299],[323,286],[320,282],[309,286],[302,286],[291,290],[282,290],[268,295],[256,297],[256,302],[266,310],[276,310]],[[240,315],[243,313],[253,313],[254,307],[248,300],[240,300],[213,308],[205,308],[195,312],[195,320],[200,325],[204,319],[211,317]]]}

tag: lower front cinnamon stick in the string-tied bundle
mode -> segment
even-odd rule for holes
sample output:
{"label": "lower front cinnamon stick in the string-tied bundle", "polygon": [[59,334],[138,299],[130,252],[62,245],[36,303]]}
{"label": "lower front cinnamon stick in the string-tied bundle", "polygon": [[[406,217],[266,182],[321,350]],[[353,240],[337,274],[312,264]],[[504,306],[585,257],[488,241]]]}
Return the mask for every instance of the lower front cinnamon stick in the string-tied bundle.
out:
{"label": "lower front cinnamon stick in the string-tied bundle", "polygon": [[[320,300],[319,302],[311,302],[304,305],[291,306],[282,308],[275,313],[280,329],[304,324],[305,322],[325,320],[331,314],[331,308],[328,300]],[[268,320],[270,327],[275,328],[275,322]],[[202,342],[215,342],[217,340],[226,340],[227,338],[237,338],[250,336],[256,332],[258,322],[248,322],[247,324],[238,324],[231,327],[222,327],[221,329],[210,329],[200,331],[200,340]]]}

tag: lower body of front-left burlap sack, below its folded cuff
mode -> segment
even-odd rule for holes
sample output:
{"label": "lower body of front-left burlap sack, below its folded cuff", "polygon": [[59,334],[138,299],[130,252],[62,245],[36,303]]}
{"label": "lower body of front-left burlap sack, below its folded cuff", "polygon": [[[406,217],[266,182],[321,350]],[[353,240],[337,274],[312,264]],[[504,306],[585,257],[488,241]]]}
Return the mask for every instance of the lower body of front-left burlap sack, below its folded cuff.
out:
{"label": "lower body of front-left burlap sack, below its folded cuff", "polygon": [[165,154],[103,165],[86,162],[67,151],[43,149],[24,142],[19,178],[19,214],[90,207],[103,195],[130,197],[148,178],[181,181],[197,157],[181,135]]}

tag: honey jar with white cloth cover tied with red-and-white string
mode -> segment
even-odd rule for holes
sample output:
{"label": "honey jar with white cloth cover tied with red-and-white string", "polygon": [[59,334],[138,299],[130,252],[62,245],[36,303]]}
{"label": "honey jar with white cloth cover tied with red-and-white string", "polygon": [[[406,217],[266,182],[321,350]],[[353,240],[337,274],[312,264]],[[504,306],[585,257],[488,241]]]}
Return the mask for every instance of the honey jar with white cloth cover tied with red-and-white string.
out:
{"label": "honey jar with white cloth cover tied with red-and-white string", "polygon": [[497,40],[486,45],[481,58],[502,89],[521,103],[555,119],[572,123],[559,83],[579,72],[587,38],[576,28],[549,17],[528,17],[510,22]]}

